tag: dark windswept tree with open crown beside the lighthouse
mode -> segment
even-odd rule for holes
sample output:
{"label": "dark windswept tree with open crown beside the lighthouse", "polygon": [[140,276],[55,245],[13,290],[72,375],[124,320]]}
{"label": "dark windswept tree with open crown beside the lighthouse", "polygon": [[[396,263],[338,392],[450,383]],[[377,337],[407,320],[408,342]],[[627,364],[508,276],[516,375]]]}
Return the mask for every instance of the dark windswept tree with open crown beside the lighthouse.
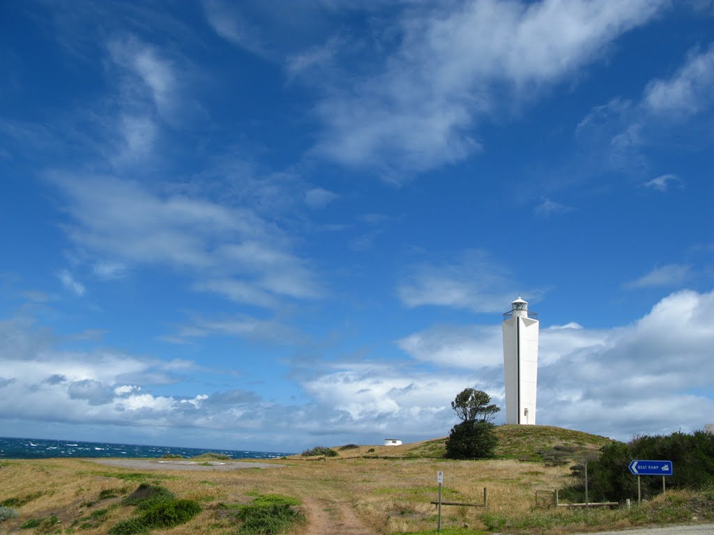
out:
{"label": "dark windswept tree with open crown beside the lighthouse", "polygon": [[451,428],[446,439],[448,459],[486,459],[493,457],[498,437],[491,419],[500,407],[491,403],[491,396],[481,390],[467,388],[456,395],[451,408],[463,420]]}

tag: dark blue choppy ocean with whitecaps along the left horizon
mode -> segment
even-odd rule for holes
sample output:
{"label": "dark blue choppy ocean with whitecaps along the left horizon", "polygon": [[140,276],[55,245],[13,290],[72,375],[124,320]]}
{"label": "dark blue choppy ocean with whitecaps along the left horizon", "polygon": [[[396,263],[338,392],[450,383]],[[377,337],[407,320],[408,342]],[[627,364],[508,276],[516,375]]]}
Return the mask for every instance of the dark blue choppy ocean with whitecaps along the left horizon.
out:
{"label": "dark blue choppy ocean with whitecaps along the left horizon", "polygon": [[0,459],[48,459],[50,457],[164,457],[178,454],[196,457],[203,453],[221,453],[231,459],[276,459],[292,455],[280,452],[246,452],[233,449],[181,448],[173,446],[142,446],[139,444],[111,444],[109,442],[81,442],[79,440],[18,439],[0,437]]}

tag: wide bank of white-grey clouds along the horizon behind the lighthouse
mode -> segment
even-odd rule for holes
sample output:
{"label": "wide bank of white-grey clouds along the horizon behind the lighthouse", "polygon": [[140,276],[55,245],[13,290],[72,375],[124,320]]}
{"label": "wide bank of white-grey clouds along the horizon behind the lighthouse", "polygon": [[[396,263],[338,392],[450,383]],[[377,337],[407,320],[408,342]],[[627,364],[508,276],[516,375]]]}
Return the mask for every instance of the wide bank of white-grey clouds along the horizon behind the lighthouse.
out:
{"label": "wide bank of white-grey clouds along the horizon behind the lighthouse", "polygon": [[[630,325],[543,328],[538,422],[618,439],[700,429],[714,409],[714,324],[706,314],[713,307],[714,292],[683,291]],[[500,337],[499,325],[433,327],[398,342],[414,362],[326,363],[317,376],[298,379],[306,395],[298,406],[268,403],[235,387],[177,395],[169,385],[152,394],[154,375],[172,363],[59,351],[16,319],[0,322],[0,396],[13,399],[0,404],[0,420],[131,426],[146,436],[168,427],[204,434],[230,429],[263,444],[284,435],[293,451],[316,436],[366,444],[388,434],[438,437],[455,422],[450,402],[463,388],[483,389],[503,407]],[[139,380],[124,379],[131,375]]]}

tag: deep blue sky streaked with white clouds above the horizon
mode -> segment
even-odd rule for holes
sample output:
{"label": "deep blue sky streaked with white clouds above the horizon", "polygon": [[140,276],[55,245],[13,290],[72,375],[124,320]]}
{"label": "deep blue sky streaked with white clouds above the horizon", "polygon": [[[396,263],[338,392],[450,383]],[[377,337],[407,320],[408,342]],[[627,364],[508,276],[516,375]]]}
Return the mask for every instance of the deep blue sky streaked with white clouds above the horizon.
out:
{"label": "deep blue sky streaked with white clouds above the horizon", "polygon": [[2,435],[441,437],[519,294],[538,423],[714,422],[710,1],[7,1],[0,69]]}

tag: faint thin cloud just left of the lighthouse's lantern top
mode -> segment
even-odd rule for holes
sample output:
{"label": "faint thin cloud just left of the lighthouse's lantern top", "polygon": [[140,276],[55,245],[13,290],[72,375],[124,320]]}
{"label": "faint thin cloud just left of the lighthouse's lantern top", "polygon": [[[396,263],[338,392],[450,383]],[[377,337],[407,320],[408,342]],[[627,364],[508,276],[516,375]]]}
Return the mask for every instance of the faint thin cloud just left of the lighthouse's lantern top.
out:
{"label": "faint thin cloud just left of the lighthouse's lantern top", "polygon": [[[451,262],[423,263],[411,269],[397,293],[408,307],[439,305],[475,312],[503,312],[513,300],[508,270],[481,250],[468,250]],[[531,295],[533,292],[531,292]]]}

